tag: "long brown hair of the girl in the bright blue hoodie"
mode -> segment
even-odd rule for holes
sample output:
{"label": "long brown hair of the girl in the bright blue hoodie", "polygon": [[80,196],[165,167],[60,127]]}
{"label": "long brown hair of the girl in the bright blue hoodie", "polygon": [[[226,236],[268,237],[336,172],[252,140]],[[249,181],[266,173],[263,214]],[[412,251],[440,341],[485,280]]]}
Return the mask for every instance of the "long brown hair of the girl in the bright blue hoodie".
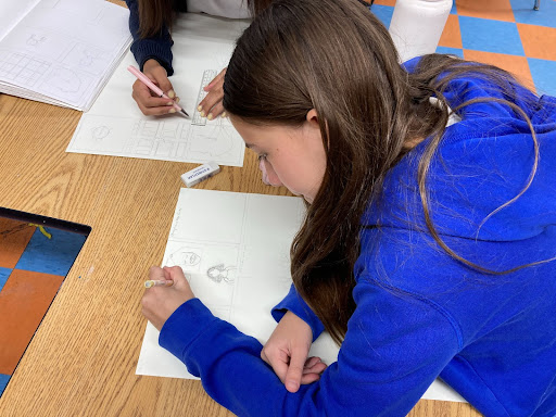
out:
{"label": "long brown hair of the girl in the bright blue hoodie", "polygon": [[[433,138],[418,169],[427,227],[452,256],[475,266],[435,232],[426,189],[448,118],[442,92],[469,71],[498,85],[513,79],[498,68],[445,55],[427,56],[408,74],[387,28],[355,0],[277,0],[237,42],[224,84],[227,112],[254,125],[301,126],[309,110],[317,111],[327,167],[292,243],[291,274],[338,343],[355,309],[362,216],[413,139]],[[440,73],[448,75],[439,79]],[[444,105],[431,105],[432,96]]]}

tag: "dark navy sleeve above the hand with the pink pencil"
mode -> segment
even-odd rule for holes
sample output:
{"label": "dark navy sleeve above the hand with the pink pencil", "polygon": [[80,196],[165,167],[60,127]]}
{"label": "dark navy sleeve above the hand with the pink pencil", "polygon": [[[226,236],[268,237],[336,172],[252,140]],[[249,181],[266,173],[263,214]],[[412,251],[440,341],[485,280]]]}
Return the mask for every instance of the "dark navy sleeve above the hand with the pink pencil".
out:
{"label": "dark navy sleeve above the hand with the pink pencil", "polygon": [[139,35],[139,5],[137,0],[126,0],[126,4],[129,9],[129,31],[134,37],[131,53],[139,64],[139,68],[143,71],[144,63],[150,59],[154,59],[164,66],[168,76],[170,76],[174,74],[174,68],[172,67],[172,46],[174,41],[168,29],[163,27],[156,36],[141,38]]}

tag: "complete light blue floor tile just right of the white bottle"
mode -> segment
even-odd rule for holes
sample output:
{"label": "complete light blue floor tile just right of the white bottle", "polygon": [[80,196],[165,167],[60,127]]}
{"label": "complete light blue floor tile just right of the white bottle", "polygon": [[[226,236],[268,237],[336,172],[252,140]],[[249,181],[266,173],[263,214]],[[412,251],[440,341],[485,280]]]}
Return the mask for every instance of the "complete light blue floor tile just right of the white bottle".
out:
{"label": "complete light blue floor tile just right of the white bottle", "polygon": [[464,49],[525,56],[514,22],[458,16]]}

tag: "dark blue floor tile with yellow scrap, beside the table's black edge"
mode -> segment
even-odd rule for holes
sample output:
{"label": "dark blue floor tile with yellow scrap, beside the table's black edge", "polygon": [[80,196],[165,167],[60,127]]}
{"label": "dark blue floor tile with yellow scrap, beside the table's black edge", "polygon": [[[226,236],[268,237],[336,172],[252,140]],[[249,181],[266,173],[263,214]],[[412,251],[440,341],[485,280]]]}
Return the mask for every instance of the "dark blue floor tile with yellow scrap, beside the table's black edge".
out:
{"label": "dark blue floor tile with yellow scrap, beside the table's black edge", "polygon": [[87,237],[52,228],[47,231],[51,239],[35,230],[15,268],[65,277]]}

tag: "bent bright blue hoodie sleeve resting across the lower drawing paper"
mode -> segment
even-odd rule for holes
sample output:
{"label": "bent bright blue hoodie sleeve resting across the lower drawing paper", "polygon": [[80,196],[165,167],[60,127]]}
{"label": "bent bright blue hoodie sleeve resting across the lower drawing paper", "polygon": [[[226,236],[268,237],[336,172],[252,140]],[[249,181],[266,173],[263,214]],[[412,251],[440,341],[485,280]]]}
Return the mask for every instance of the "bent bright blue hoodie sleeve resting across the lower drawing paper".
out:
{"label": "bent bright blue hoodie sleeve resting across the lower drawing paper", "polygon": [[459,349],[456,331],[434,305],[370,280],[357,285],[354,299],[338,362],[296,393],[261,359],[257,340],[198,299],[168,318],[159,342],[238,416],[406,415]]}

